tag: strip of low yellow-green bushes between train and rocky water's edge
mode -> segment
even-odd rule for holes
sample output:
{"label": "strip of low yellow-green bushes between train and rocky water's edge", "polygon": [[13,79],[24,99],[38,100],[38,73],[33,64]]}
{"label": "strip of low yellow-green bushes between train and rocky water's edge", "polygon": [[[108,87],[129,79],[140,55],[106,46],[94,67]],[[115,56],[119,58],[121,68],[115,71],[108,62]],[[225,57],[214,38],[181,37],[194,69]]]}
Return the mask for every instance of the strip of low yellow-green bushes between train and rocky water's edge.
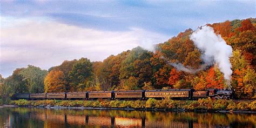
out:
{"label": "strip of low yellow-green bushes between train and rocky water's edge", "polygon": [[13,100],[12,105],[19,106],[71,106],[71,107],[108,107],[108,108],[133,108],[133,109],[184,109],[188,111],[194,110],[251,110],[256,111],[256,100],[233,101],[233,100]]}

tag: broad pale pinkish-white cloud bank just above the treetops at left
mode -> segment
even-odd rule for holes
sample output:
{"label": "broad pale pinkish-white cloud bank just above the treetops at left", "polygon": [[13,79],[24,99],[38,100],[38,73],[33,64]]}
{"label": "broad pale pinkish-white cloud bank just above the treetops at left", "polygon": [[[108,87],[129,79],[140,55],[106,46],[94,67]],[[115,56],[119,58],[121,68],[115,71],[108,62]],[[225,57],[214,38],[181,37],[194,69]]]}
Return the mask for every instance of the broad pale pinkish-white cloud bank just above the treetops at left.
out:
{"label": "broad pale pinkish-white cloud bank just above the treetops at left", "polygon": [[[48,69],[63,60],[87,57],[92,61],[103,60],[111,54],[138,45],[152,49],[152,44],[169,37],[139,28],[129,31],[102,31],[80,28],[49,19],[3,18],[1,30],[1,72],[4,77],[15,68],[28,64]],[[11,20],[8,20],[11,19]]]}

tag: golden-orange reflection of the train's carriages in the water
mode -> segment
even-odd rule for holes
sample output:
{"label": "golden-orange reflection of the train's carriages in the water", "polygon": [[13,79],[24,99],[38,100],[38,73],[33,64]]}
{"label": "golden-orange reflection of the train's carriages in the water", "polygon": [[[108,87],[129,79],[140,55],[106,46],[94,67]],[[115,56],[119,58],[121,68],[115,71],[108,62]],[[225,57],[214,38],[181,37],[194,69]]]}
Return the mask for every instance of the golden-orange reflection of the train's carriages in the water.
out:
{"label": "golden-orange reflection of the train's carriages in the water", "polygon": [[96,117],[76,116],[70,114],[31,114],[30,118],[37,118],[48,123],[87,126],[116,126],[116,127],[193,127],[192,122],[164,122],[163,120],[147,120],[145,118],[128,117]]}

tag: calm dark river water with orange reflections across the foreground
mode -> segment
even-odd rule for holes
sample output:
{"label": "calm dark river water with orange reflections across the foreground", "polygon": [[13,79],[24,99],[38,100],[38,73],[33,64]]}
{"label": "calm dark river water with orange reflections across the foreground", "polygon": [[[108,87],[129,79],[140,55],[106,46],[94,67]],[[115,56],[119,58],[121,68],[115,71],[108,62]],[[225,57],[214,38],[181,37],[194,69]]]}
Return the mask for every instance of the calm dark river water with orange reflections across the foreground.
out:
{"label": "calm dark river water with orange reflections across the foreground", "polygon": [[256,114],[0,109],[0,127],[255,127]]}

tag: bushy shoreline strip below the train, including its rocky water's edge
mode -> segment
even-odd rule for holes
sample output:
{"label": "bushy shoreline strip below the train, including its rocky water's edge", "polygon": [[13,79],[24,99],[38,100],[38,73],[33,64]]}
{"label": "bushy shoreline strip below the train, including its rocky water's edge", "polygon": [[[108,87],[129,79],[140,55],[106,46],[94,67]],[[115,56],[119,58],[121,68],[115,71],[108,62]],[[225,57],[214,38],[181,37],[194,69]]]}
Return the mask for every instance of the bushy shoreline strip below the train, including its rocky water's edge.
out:
{"label": "bushy shoreline strip below the train, including its rocky water's edge", "polygon": [[256,113],[256,100],[12,100],[10,104],[46,109]]}

